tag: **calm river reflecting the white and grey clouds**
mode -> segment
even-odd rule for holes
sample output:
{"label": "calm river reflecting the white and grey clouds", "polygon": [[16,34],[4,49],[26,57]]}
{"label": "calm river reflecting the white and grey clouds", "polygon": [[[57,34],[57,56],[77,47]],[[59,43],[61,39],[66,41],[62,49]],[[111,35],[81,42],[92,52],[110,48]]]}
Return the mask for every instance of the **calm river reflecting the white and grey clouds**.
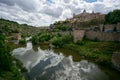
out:
{"label": "calm river reflecting the white and grey clouds", "polygon": [[[69,54],[69,51],[68,51]],[[76,55],[76,54],[75,54]],[[33,50],[31,42],[24,48],[13,50],[13,56],[19,59],[28,69],[24,73],[26,80],[119,80],[110,72],[99,68],[95,63],[87,60],[77,60],[72,55],[56,53],[54,50]],[[106,74],[106,73],[109,73]],[[110,78],[111,75],[116,75]],[[116,78],[116,79],[115,79]]]}

